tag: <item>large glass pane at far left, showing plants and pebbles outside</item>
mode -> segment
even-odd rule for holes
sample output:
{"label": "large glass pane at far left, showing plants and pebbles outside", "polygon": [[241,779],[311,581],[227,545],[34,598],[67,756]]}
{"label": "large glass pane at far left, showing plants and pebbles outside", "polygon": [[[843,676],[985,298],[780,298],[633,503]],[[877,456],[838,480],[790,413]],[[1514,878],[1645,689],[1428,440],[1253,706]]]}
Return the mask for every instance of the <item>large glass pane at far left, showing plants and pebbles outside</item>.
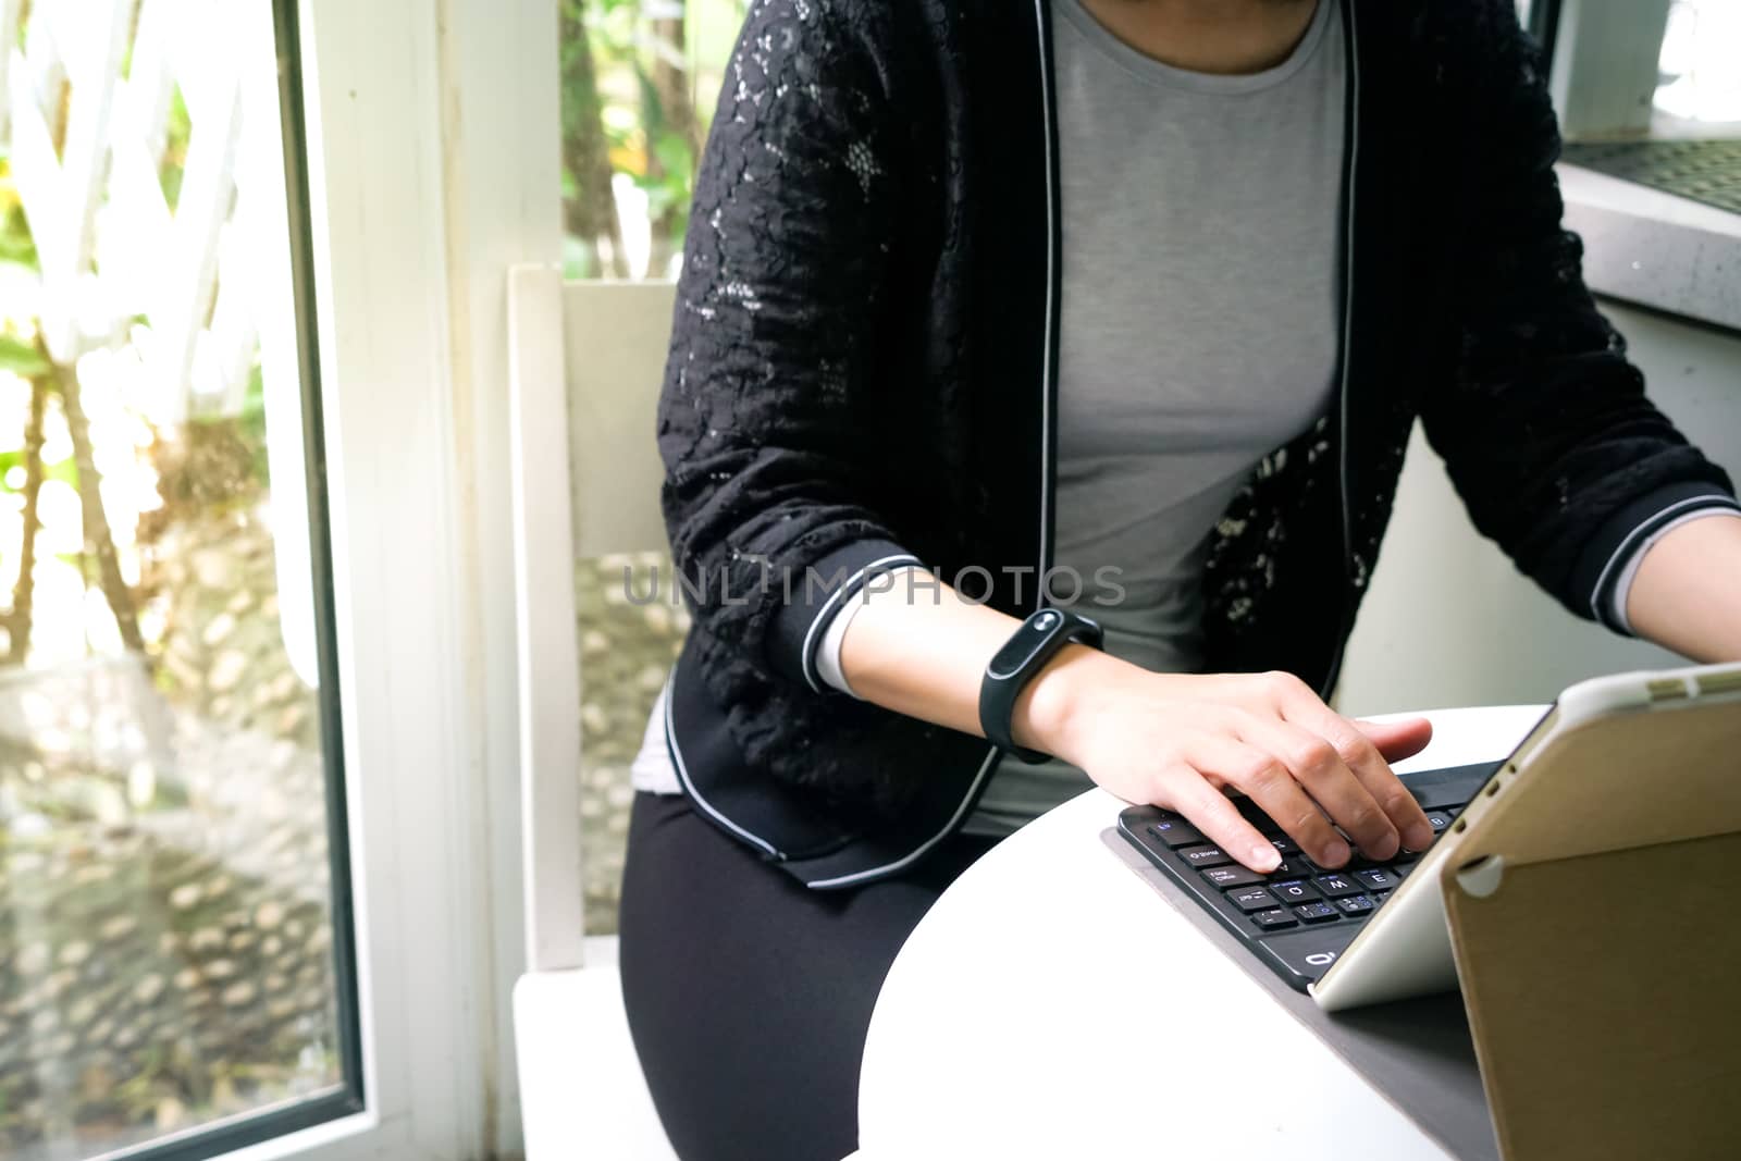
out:
{"label": "large glass pane at far left, showing plants and pebbles outside", "polygon": [[59,1161],[357,1090],[270,0],[21,9],[0,1156]]}

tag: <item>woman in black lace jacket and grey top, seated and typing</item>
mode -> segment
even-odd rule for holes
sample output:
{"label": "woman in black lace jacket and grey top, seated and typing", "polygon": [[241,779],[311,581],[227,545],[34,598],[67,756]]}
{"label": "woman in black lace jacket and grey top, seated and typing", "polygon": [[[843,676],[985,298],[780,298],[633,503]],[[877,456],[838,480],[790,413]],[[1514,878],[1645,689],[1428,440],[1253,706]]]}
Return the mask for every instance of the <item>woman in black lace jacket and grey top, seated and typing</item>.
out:
{"label": "woman in black lace jacket and grey top, seated and typing", "polygon": [[1574,613],[1741,656],[1729,480],[1596,313],[1556,146],[1509,0],[754,5],[622,914],[684,1158],[851,1152],[900,942],[1090,780],[1259,870],[1227,790],[1330,867],[1429,841],[1426,724],[1323,701],[1415,418]]}

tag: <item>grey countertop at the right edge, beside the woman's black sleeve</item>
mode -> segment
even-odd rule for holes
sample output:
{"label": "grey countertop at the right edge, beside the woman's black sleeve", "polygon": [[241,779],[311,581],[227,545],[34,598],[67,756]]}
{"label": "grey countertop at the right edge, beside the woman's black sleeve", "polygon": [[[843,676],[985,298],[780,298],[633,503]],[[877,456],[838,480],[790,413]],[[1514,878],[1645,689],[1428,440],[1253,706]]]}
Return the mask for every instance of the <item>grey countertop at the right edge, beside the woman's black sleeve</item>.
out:
{"label": "grey countertop at the right edge, beside the woman's black sleeve", "polygon": [[1741,331],[1741,214],[1558,165],[1596,294]]}

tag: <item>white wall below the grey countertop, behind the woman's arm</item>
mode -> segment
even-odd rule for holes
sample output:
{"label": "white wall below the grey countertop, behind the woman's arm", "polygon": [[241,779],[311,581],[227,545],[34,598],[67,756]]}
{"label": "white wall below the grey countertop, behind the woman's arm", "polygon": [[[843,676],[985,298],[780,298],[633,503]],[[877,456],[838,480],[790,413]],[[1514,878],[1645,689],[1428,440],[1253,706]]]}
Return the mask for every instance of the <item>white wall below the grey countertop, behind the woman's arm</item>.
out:
{"label": "white wall below the grey countertop, behind the woman's arm", "polygon": [[[1605,303],[1650,399],[1741,475],[1741,334]],[[1736,578],[1741,585],[1741,578]],[[1469,526],[1419,430],[1360,613],[1337,705],[1346,714],[1549,701],[1572,681],[1684,663],[1581,621]]]}

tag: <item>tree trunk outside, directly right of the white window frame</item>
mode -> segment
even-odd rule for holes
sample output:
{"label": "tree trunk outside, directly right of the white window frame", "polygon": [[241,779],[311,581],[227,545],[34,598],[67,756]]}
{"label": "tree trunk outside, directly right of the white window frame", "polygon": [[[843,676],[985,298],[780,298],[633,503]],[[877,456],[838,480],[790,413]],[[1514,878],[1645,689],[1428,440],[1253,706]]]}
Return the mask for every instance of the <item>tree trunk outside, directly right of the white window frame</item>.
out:
{"label": "tree trunk outside, directly right of the white window frame", "polygon": [[[595,256],[599,242],[609,242],[611,273],[627,279],[629,259],[623,254],[623,230],[616,221],[616,198],[611,193],[604,101],[599,99],[585,0],[562,3],[557,17],[557,45],[562,54],[562,167],[575,183],[575,195],[562,202],[562,225],[568,233],[590,245]],[[594,275],[602,270],[585,273]]]}

